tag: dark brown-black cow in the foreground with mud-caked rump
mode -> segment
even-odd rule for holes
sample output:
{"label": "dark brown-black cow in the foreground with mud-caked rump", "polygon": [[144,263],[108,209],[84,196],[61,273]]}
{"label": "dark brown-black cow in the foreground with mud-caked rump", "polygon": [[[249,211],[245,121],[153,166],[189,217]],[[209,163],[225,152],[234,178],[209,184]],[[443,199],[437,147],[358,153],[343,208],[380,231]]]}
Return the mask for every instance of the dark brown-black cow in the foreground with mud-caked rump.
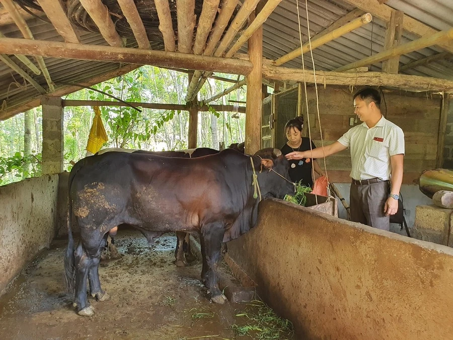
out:
{"label": "dark brown-black cow in the foreground with mud-caked rump", "polygon": [[255,226],[261,195],[283,198],[294,193],[289,163],[278,149],[254,156],[226,149],[193,159],[140,153],[97,158],[69,176],[68,214],[72,211],[77,220],[80,242],[74,251],[69,218],[64,265],[69,291],[75,283],[80,315],[94,313],[87,300],[87,278],[91,294],[99,301],[108,298],[99,281],[99,257],[109,231],[120,224],[142,231],[149,243],[169,231],[198,232],[202,281],[211,300],[224,303],[217,284],[222,241]]}

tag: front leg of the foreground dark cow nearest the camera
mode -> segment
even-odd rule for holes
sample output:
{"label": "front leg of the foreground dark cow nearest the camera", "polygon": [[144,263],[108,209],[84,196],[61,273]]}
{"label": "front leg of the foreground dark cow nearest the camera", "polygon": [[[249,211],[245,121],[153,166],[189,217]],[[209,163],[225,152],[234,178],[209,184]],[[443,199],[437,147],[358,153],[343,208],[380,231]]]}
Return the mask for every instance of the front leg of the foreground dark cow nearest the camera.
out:
{"label": "front leg of the foreground dark cow nearest the camera", "polygon": [[201,228],[202,254],[204,253],[203,262],[205,262],[201,275],[209,290],[212,302],[220,304],[226,301],[226,297],[220,292],[217,282],[218,260],[220,259],[220,247],[224,233],[225,229],[220,223],[204,225]]}

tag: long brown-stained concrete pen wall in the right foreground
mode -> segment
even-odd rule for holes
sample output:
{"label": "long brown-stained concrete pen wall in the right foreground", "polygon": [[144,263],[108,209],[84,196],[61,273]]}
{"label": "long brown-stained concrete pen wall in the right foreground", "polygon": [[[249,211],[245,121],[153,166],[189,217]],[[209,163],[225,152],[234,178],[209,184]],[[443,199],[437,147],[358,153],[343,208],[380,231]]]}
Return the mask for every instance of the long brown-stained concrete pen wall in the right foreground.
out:
{"label": "long brown-stained concrete pen wall in the right foreground", "polygon": [[304,339],[453,336],[453,249],[265,200],[228,254]]}

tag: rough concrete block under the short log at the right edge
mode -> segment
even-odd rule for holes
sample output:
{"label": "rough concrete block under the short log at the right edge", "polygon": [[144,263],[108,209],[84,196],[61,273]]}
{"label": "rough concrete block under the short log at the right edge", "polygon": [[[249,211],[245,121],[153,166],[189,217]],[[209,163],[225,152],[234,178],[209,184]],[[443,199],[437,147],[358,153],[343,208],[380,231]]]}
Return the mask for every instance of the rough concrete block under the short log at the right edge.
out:
{"label": "rough concrete block under the short log at the right edge", "polygon": [[423,241],[447,245],[451,221],[451,209],[434,205],[415,208],[414,237]]}

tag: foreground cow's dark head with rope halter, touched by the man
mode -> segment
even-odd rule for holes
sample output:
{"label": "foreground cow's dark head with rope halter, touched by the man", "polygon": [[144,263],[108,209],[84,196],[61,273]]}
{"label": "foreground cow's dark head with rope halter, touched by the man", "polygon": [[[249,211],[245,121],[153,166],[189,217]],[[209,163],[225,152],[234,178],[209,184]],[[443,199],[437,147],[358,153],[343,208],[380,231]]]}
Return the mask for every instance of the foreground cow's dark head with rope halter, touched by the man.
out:
{"label": "foreground cow's dark head with rope halter, touched by the man", "polygon": [[294,185],[289,178],[290,163],[282,156],[278,149],[267,148],[258,151],[255,156],[261,158],[257,168],[259,185],[263,196],[284,198],[285,195],[294,194]]}

